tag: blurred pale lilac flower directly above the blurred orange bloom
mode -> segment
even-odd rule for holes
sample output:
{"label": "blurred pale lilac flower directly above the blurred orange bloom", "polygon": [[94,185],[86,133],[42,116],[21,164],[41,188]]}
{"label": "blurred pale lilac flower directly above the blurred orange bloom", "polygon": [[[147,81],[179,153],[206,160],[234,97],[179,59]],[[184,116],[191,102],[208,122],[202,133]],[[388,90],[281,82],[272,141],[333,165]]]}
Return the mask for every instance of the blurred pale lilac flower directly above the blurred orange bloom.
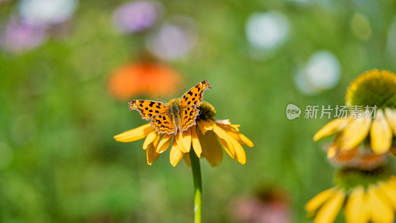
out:
{"label": "blurred pale lilac flower directly above the blurred orange bloom", "polygon": [[146,43],[153,55],[175,60],[185,56],[196,41],[194,21],[186,16],[174,16],[149,36]]}

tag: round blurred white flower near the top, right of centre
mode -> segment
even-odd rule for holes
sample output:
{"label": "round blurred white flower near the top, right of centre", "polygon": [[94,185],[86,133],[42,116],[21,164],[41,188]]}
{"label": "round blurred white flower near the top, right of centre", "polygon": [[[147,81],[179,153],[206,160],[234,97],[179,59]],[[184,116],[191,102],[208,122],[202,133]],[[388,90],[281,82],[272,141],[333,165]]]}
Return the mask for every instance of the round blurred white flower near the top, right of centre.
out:
{"label": "round blurred white flower near the top, right of centre", "polygon": [[246,36],[252,47],[270,50],[283,42],[289,33],[288,19],[280,12],[254,12],[247,19]]}

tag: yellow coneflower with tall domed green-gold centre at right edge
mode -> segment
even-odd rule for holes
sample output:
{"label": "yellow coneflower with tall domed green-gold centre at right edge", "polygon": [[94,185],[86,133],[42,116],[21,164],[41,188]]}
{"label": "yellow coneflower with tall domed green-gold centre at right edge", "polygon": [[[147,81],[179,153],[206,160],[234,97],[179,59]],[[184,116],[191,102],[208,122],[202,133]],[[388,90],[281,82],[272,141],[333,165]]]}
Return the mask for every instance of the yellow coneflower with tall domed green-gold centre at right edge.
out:
{"label": "yellow coneflower with tall domed green-gold centre at right edge", "polygon": [[[314,135],[313,140],[338,133],[335,144],[347,151],[369,137],[374,153],[387,153],[393,135],[396,135],[396,75],[377,69],[363,73],[349,85],[346,104],[349,110],[358,107],[362,112],[330,121]],[[364,109],[367,113],[363,112]]]}

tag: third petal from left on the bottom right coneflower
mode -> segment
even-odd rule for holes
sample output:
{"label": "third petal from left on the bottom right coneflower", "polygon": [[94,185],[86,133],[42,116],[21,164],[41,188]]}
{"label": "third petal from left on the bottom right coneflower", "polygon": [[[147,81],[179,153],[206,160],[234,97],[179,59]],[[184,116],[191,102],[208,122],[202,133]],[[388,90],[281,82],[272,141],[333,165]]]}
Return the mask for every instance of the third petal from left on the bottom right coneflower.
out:
{"label": "third petal from left on the bottom right coneflower", "polygon": [[362,186],[354,188],[347,199],[345,206],[345,218],[347,223],[368,223],[369,215],[366,210],[365,190]]}

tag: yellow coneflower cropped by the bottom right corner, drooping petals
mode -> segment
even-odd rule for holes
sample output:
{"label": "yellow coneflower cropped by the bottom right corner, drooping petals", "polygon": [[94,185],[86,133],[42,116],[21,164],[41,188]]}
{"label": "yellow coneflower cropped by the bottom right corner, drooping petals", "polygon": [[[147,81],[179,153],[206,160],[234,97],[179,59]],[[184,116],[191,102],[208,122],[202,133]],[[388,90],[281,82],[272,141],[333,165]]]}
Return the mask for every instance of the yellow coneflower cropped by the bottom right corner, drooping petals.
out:
{"label": "yellow coneflower cropped by the bottom right corner, drooping petals", "polygon": [[306,205],[314,223],[332,223],[341,208],[347,223],[393,223],[396,210],[396,176],[388,167],[371,170],[343,168],[337,186],[313,197]]}

